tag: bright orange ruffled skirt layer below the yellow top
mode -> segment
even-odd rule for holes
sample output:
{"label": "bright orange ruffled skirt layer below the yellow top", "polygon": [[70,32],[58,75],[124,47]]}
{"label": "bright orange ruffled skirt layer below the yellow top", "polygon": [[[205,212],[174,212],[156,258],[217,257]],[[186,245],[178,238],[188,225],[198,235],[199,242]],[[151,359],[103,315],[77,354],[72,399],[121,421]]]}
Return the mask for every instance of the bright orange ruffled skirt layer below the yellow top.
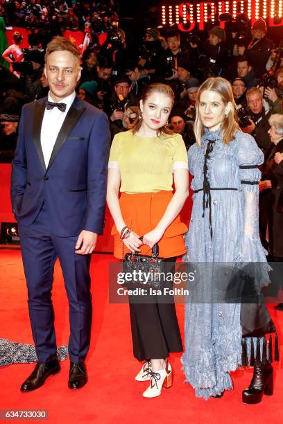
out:
{"label": "bright orange ruffled skirt layer below the yellow top", "polygon": [[[154,229],[164,215],[166,208],[173,197],[171,191],[158,191],[156,193],[121,193],[120,207],[126,225],[138,236],[144,236]],[[161,258],[173,258],[185,254],[186,247],[183,234],[188,230],[187,225],[181,222],[178,215],[164,232],[158,242]],[[120,234],[115,225],[112,227],[111,235],[114,236],[114,256],[122,259],[129,250],[120,240]],[[142,245],[140,254],[150,255],[151,248]],[[124,251],[123,251],[124,250]]]}

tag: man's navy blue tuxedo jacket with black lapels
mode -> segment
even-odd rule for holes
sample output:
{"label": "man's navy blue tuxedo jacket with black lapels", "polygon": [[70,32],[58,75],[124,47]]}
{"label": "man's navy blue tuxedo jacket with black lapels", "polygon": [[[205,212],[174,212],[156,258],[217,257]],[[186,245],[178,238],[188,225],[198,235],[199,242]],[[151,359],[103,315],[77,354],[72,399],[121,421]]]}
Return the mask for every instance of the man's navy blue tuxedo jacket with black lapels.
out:
{"label": "man's navy blue tuxedo jacket with black lapels", "polygon": [[46,168],[40,141],[46,98],[24,105],[12,161],[12,208],[28,226],[43,202],[51,231],[78,236],[83,229],[101,234],[105,212],[110,131],[107,116],[75,98]]}

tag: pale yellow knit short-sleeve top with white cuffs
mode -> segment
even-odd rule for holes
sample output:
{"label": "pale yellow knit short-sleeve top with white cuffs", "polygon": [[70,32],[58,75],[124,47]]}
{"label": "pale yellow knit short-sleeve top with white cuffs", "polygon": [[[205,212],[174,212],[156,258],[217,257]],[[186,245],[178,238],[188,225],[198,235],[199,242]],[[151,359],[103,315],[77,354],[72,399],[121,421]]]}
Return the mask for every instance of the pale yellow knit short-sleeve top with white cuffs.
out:
{"label": "pale yellow knit short-sleeve top with white cuffs", "polygon": [[121,192],[173,191],[173,170],[188,169],[187,150],[180,134],[142,137],[132,131],[114,136],[108,168],[121,174]]}

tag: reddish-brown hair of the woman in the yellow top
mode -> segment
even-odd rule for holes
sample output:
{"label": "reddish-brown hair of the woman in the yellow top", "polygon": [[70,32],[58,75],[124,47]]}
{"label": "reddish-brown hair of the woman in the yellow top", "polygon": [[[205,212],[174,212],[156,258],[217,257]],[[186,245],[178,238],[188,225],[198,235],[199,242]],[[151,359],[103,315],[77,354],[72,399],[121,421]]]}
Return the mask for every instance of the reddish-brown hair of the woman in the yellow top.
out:
{"label": "reddish-brown hair of the woman in the yellow top", "polygon": [[[148,85],[147,87],[144,88],[144,91],[142,92],[142,95],[141,95],[142,103],[145,103],[146,100],[148,99],[148,97],[151,96],[151,94],[153,94],[153,93],[164,94],[165,96],[168,96],[169,98],[171,98],[172,107],[173,107],[175,95],[174,95],[174,92],[169,85],[162,84],[162,82],[154,82],[153,84]],[[142,125],[141,109],[140,108],[139,108],[139,117],[140,118],[137,120],[137,122],[135,122],[135,124],[132,126],[132,133],[133,134],[138,132],[139,128]],[[170,130],[167,127],[167,125],[163,125],[163,127],[159,128],[158,132],[157,132],[158,136],[160,136],[162,134],[174,134],[174,132],[172,130]]]}

